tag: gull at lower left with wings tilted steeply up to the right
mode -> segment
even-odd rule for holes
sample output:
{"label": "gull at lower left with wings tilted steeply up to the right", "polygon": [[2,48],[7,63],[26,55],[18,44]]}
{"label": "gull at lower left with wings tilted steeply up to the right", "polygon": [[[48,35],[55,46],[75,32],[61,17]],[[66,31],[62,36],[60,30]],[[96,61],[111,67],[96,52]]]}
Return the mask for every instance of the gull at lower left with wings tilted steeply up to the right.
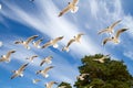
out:
{"label": "gull at lower left with wings tilted steeply up to the right", "polygon": [[12,73],[14,73],[14,74],[11,76],[11,79],[13,79],[18,76],[23,77],[23,72],[24,72],[25,67],[28,66],[28,64],[22,65],[18,70],[13,70]]}

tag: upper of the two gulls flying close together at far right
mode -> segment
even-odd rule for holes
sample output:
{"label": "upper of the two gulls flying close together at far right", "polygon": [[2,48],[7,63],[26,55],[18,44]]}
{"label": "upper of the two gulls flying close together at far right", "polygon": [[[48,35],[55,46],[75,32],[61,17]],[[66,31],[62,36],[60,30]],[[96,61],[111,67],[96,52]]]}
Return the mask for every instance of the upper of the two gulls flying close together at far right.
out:
{"label": "upper of the two gulls flying close together at far right", "polygon": [[122,20],[119,20],[116,22],[114,22],[112,25],[108,26],[106,29],[100,31],[98,34],[102,34],[102,33],[110,33],[112,34],[114,31],[114,26],[116,26]]}

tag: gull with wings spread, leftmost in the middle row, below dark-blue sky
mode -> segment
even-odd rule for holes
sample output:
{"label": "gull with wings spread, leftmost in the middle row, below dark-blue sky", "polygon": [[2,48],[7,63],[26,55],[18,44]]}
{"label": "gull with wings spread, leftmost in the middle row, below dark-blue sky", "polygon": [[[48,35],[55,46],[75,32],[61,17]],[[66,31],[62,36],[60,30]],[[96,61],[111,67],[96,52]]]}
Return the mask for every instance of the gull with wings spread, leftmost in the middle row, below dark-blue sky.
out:
{"label": "gull with wings spread, leftmost in the middle row, below dark-blue sky", "polygon": [[30,36],[27,41],[16,41],[14,44],[22,44],[27,50],[30,50],[29,43],[38,36],[39,35]]}

